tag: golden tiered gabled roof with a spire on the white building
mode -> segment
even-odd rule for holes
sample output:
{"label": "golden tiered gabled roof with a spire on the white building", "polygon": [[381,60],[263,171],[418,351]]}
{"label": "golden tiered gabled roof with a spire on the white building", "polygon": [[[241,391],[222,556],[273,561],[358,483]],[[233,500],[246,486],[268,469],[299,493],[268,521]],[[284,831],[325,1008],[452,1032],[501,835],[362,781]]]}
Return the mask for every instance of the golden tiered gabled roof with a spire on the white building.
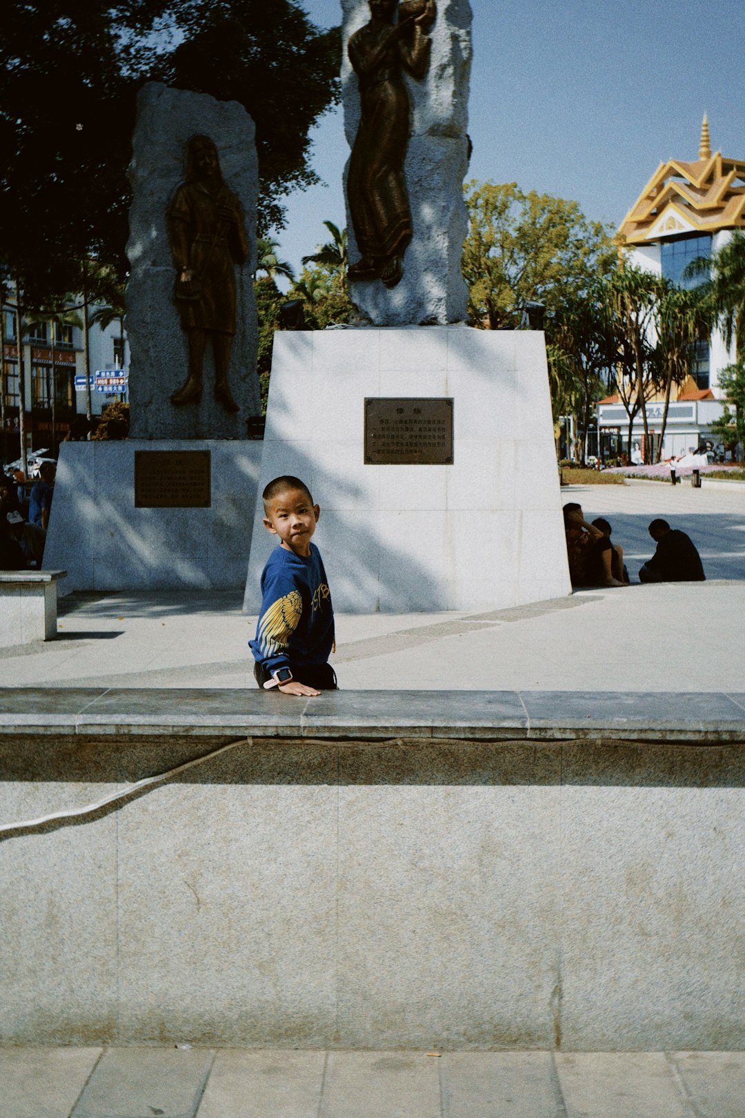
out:
{"label": "golden tiered gabled roof with a spire on the white building", "polygon": [[618,236],[628,245],[643,245],[681,233],[738,228],[745,228],[745,160],[711,154],[704,114],[698,159],[660,163]]}

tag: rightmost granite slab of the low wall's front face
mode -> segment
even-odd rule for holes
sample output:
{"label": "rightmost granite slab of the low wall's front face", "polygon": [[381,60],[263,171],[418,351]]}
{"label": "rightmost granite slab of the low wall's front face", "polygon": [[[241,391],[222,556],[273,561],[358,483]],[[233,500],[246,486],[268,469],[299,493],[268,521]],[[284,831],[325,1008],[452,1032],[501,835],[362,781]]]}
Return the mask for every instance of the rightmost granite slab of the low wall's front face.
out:
{"label": "rightmost granite slab of the low wall's front face", "polygon": [[562,747],[562,1046],[745,1046],[742,787],[742,748]]}

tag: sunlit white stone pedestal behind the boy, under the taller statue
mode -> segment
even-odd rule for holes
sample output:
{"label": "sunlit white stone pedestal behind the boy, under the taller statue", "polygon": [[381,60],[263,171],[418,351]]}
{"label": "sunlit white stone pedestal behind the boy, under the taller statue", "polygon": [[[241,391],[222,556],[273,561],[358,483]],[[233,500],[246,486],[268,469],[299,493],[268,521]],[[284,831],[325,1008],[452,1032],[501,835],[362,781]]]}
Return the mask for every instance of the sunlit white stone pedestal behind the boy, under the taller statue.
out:
{"label": "sunlit white stone pedestal behind the boy, under the taller statue", "polygon": [[[275,335],[245,609],[276,537],[260,494],[302,477],[337,613],[490,610],[571,593],[542,333]],[[452,465],[365,465],[365,397],[451,397]],[[60,560],[61,561],[61,560]]]}

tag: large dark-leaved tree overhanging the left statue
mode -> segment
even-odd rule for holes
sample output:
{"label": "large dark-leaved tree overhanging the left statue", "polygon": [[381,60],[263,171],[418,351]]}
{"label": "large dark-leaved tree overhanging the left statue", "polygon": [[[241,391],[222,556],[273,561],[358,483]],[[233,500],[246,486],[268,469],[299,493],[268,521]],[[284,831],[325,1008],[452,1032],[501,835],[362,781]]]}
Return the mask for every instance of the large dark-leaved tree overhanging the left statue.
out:
{"label": "large dark-leaved tree overhanging the left statue", "polygon": [[[157,32],[157,34],[156,34]],[[308,130],[338,96],[341,37],[300,0],[6,0],[0,40],[0,263],[28,305],[69,290],[79,262],[121,278],[137,88],[146,79],[237,100],[259,152],[259,226],[306,187]]]}

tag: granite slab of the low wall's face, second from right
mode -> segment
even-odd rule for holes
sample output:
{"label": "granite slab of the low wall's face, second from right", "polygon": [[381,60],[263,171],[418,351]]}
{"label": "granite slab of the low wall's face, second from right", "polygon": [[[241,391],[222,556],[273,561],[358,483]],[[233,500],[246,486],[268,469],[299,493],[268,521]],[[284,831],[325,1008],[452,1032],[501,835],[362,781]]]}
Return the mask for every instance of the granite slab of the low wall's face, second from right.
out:
{"label": "granite slab of the low wall's face, second from right", "polygon": [[558,748],[341,751],[350,1046],[552,1045],[556,957],[539,929],[558,911],[560,771]]}

